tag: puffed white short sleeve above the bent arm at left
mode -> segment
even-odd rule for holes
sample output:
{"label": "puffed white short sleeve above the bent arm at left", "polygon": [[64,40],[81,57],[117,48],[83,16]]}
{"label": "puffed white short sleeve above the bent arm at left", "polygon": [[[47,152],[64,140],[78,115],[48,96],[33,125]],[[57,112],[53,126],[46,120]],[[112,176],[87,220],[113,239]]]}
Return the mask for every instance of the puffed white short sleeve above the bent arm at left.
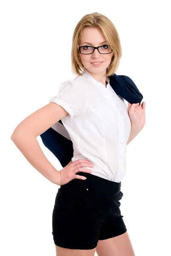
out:
{"label": "puffed white short sleeve above the bent arm at left", "polygon": [[64,81],[58,94],[50,98],[64,108],[71,116],[81,116],[87,108],[87,88],[83,82],[76,79]]}

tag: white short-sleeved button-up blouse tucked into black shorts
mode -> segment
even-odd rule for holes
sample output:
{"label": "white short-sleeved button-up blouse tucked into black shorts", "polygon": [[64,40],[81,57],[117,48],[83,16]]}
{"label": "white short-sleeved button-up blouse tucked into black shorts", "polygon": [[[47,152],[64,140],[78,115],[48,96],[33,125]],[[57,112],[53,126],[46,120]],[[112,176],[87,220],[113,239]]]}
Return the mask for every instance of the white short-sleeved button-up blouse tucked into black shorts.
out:
{"label": "white short-sleeved button-up blouse tucked into black shorts", "polygon": [[[87,70],[82,76],[64,81],[49,102],[63,107],[67,116],[52,126],[72,140],[72,162],[90,160],[92,175],[120,182],[126,171],[127,141],[131,122],[124,99],[109,84],[96,81]],[[61,129],[61,132],[60,132]],[[64,131],[65,129],[65,131]]]}

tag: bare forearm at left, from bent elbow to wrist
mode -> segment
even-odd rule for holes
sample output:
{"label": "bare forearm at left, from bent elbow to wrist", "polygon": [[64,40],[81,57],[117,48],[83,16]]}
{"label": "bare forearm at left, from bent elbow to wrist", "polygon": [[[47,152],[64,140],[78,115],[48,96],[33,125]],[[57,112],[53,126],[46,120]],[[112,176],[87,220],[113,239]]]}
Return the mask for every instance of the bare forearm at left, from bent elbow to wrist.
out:
{"label": "bare forearm at left, from bent elbow to wrist", "polygon": [[21,151],[29,163],[44,177],[54,184],[60,185],[60,176],[58,170],[49,162],[43,154],[38,140],[35,137],[26,135],[17,136],[12,134],[14,144]]}

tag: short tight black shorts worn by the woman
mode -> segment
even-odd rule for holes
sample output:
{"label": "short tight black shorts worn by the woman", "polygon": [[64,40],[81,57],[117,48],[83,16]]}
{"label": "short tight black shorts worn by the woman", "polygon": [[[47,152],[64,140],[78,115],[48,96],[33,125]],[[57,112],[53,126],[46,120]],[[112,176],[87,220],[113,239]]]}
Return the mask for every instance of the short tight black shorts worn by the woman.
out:
{"label": "short tight black shorts worn by the woman", "polygon": [[78,172],[86,180],[73,179],[57,192],[52,213],[52,235],[56,245],[89,250],[98,240],[127,231],[119,209],[121,182]]}

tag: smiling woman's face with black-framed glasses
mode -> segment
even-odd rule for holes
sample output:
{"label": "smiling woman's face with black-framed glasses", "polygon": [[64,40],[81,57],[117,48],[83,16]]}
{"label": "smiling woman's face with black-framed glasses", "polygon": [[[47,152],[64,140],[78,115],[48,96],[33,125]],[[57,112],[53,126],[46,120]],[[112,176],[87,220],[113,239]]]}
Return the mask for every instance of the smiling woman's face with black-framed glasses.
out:
{"label": "smiling woman's face with black-framed glasses", "polygon": [[[87,27],[82,31],[81,41],[78,46],[102,46],[107,44],[106,38],[104,37],[101,29]],[[104,47],[105,48],[105,47]],[[98,49],[92,54],[81,54],[79,52],[79,57],[81,58],[81,62],[85,69],[89,71],[90,74],[105,75],[106,69],[110,65],[111,58],[113,56],[113,52],[108,54],[101,54],[98,52]],[[92,62],[102,62],[98,66],[94,66]]]}

